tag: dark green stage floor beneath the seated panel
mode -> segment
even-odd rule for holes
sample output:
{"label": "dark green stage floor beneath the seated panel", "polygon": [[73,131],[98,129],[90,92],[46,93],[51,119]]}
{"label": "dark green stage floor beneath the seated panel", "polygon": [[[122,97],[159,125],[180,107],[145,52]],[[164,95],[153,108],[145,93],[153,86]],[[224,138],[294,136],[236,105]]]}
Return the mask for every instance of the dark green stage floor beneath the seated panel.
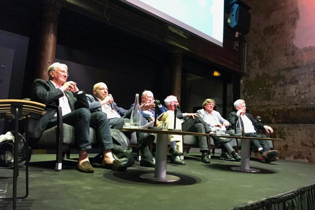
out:
{"label": "dark green stage floor beneath the seated panel", "polygon": [[[251,161],[251,167],[261,172],[244,173],[230,169],[240,162],[212,157],[210,164],[204,164],[200,156],[185,156],[186,166],[167,164],[168,174],[181,180],[160,183],[141,179],[140,174],[154,173],[154,168],[140,167],[139,162],[126,172],[95,168],[95,173],[87,174],[75,169],[77,155],[71,157],[56,172],[55,155],[32,155],[30,167],[44,171],[30,171],[29,196],[18,201],[17,209],[229,209],[315,183],[315,164],[306,162]],[[5,176],[13,170],[0,172]],[[7,196],[11,196],[12,179],[0,182],[9,182]],[[25,171],[20,170],[18,196],[24,192]],[[10,201],[0,201],[0,209],[11,207]]]}

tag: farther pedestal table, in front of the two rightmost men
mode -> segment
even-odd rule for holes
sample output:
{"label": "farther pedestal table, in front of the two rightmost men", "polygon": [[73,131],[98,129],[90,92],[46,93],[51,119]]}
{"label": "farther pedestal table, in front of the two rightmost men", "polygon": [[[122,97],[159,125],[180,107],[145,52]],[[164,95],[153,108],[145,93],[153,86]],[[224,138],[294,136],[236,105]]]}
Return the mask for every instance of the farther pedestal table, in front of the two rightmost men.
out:
{"label": "farther pedestal table, in front of the two rightmost men", "polygon": [[249,152],[250,152],[250,140],[258,139],[258,140],[282,140],[282,139],[271,139],[271,138],[257,138],[257,137],[245,137],[245,136],[230,136],[230,135],[216,135],[215,133],[210,133],[210,136],[217,136],[222,138],[229,139],[242,139],[241,150],[242,150],[242,160],[241,167],[231,167],[231,169],[236,171],[245,171],[245,172],[260,172],[257,168],[249,167]]}

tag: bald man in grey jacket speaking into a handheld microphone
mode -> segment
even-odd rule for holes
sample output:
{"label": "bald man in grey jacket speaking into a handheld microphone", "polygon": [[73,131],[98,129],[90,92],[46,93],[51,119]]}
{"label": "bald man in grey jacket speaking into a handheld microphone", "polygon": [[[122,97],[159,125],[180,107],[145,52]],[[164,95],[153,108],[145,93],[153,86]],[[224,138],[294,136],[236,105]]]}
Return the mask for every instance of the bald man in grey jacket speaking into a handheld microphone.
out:
{"label": "bald man in grey jacket speaking into a handheld microphone", "polygon": [[[130,119],[132,107],[125,110],[114,102],[112,96],[108,95],[107,85],[103,82],[96,83],[93,87],[93,95],[86,94],[89,102],[89,109],[92,111],[104,112],[107,115],[108,123],[113,128],[123,128],[124,120]],[[111,108],[111,103],[113,108]],[[142,106],[143,109],[149,109],[150,106]],[[146,125],[146,119],[140,116],[140,126]],[[140,165],[143,167],[155,167],[155,158],[149,150],[149,145],[154,142],[155,136],[152,133],[136,132],[137,150],[141,151]]]}

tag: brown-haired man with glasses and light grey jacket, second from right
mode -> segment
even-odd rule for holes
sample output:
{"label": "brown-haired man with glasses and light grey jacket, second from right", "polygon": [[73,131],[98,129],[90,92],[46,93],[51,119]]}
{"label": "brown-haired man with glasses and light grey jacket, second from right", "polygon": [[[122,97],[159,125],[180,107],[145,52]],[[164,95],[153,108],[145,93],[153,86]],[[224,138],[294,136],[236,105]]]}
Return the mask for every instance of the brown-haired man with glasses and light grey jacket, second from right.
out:
{"label": "brown-haired man with glasses and light grey jacket, second from right", "polygon": [[[197,111],[203,120],[209,125],[211,130],[215,132],[215,128],[228,127],[230,123],[224,119],[218,111],[213,110],[215,107],[214,99],[206,99],[202,104],[203,109]],[[234,130],[225,130],[226,134],[234,134]],[[236,139],[221,138],[217,136],[211,136],[216,146],[222,145],[222,153],[220,160],[227,161],[240,161],[241,156],[233,149],[233,144]],[[232,157],[229,155],[231,154]]]}

